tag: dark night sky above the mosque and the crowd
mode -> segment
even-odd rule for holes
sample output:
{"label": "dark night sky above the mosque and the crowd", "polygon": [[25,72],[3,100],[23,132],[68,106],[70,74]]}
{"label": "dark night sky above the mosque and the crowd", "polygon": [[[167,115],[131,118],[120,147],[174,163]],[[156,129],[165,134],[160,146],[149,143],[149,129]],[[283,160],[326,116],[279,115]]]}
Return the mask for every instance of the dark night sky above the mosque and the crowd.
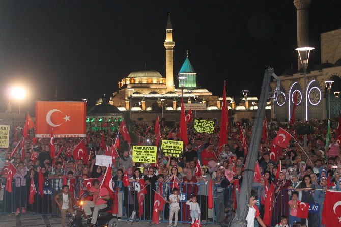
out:
{"label": "dark night sky above the mosque and the crowd", "polygon": [[[1,1],[0,111],[9,87],[29,91],[21,111],[34,115],[35,100],[88,99],[118,90],[132,71],[165,77],[165,28],[173,25],[174,78],[189,50],[197,86],[221,96],[247,89],[259,96],[264,70],[297,68],[296,8],[281,1]],[[320,34],[341,27],[339,1],[312,0],[310,65],[320,63]],[[16,111],[17,102],[12,102]]]}

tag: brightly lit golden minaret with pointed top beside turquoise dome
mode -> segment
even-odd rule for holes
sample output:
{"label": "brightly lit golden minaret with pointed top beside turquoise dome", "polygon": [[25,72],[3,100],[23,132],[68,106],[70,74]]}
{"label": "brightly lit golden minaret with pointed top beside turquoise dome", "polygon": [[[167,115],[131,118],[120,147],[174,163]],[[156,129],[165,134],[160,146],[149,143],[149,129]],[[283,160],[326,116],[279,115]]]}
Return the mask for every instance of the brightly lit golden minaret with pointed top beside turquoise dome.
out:
{"label": "brightly lit golden minaret with pointed top beside turquoise dome", "polygon": [[172,23],[171,14],[168,14],[168,22],[166,27],[166,40],[164,47],[166,48],[166,87],[167,92],[174,92],[174,79],[173,79],[173,47],[174,42],[172,38]]}

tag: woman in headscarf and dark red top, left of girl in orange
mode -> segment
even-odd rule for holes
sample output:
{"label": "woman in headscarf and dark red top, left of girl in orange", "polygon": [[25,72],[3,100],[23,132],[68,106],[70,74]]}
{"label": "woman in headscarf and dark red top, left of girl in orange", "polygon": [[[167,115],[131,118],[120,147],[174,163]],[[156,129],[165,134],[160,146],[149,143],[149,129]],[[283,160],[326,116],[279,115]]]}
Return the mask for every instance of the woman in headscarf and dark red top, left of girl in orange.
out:
{"label": "woman in headscarf and dark red top, left of girl in orange", "polygon": [[286,175],[281,171],[278,174],[278,179],[275,181],[277,199],[275,203],[275,220],[280,220],[281,215],[289,217],[289,209],[286,207],[289,202],[288,192],[285,190],[291,185],[290,180],[286,179]]}

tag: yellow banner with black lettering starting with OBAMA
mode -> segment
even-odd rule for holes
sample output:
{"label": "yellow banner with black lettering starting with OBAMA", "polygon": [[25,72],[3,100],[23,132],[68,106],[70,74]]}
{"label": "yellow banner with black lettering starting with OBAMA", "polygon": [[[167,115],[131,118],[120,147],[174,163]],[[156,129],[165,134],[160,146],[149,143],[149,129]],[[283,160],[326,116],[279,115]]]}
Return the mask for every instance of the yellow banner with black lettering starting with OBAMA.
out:
{"label": "yellow banner with black lettering starting with OBAMA", "polygon": [[133,162],[156,162],[156,146],[133,146]]}

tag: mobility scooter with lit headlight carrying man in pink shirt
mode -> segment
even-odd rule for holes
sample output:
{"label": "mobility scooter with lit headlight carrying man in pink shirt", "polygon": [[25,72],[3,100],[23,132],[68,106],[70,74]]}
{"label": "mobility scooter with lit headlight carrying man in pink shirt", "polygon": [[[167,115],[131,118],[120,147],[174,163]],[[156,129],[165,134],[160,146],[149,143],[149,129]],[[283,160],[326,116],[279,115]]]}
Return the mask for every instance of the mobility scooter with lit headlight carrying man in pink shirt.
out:
{"label": "mobility scooter with lit headlight carrying man in pink shirt", "polygon": [[[84,210],[82,209],[85,200],[91,200],[92,196],[89,195],[89,192],[84,192],[78,201],[75,201],[75,212],[76,215],[70,220],[68,226],[71,227],[87,227],[91,222],[91,218],[88,220],[83,220]],[[113,201],[106,200],[108,206],[98,211],[98,217],[96,221],[96,227],[116,227],[118,223],[118,219],[113,217],[111,213],[108,211],[111,210]]]}

